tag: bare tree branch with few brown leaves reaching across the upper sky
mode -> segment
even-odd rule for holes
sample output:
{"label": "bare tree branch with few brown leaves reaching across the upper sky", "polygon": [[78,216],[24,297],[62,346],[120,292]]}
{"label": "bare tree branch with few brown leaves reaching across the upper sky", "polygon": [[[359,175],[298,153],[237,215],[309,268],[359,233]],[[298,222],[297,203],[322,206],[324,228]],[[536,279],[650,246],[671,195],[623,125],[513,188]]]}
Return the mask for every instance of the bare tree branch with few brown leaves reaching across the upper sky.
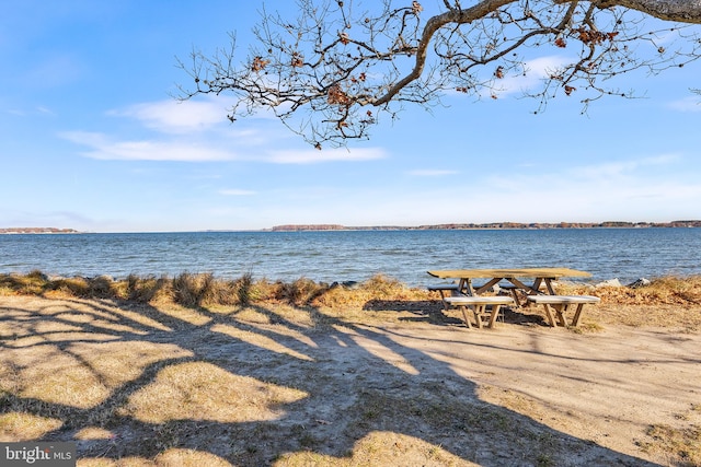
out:
{"label": "bare tree branch with few brown leaves reaching across the upper sky", "polygon": [[[430,14],[411,0],[298,7],[297,19],[263,9],[244,57],[234,36],[211,56],[193,51],[180,66],[195,85],[179,97],[232,94],[232,121],[272,112],[321,148],[369,138],[405,104],[433,106],[455,92],[498,98],[509,77],[541,81],[524,91],[539,110],[559,95],[578,96],[586,109],[606,95],[632,96],[609,87],[614,77],[701,56],[701,0],[444,0]],[[539,55],[562,61],[542,74],[529,69]]]}

